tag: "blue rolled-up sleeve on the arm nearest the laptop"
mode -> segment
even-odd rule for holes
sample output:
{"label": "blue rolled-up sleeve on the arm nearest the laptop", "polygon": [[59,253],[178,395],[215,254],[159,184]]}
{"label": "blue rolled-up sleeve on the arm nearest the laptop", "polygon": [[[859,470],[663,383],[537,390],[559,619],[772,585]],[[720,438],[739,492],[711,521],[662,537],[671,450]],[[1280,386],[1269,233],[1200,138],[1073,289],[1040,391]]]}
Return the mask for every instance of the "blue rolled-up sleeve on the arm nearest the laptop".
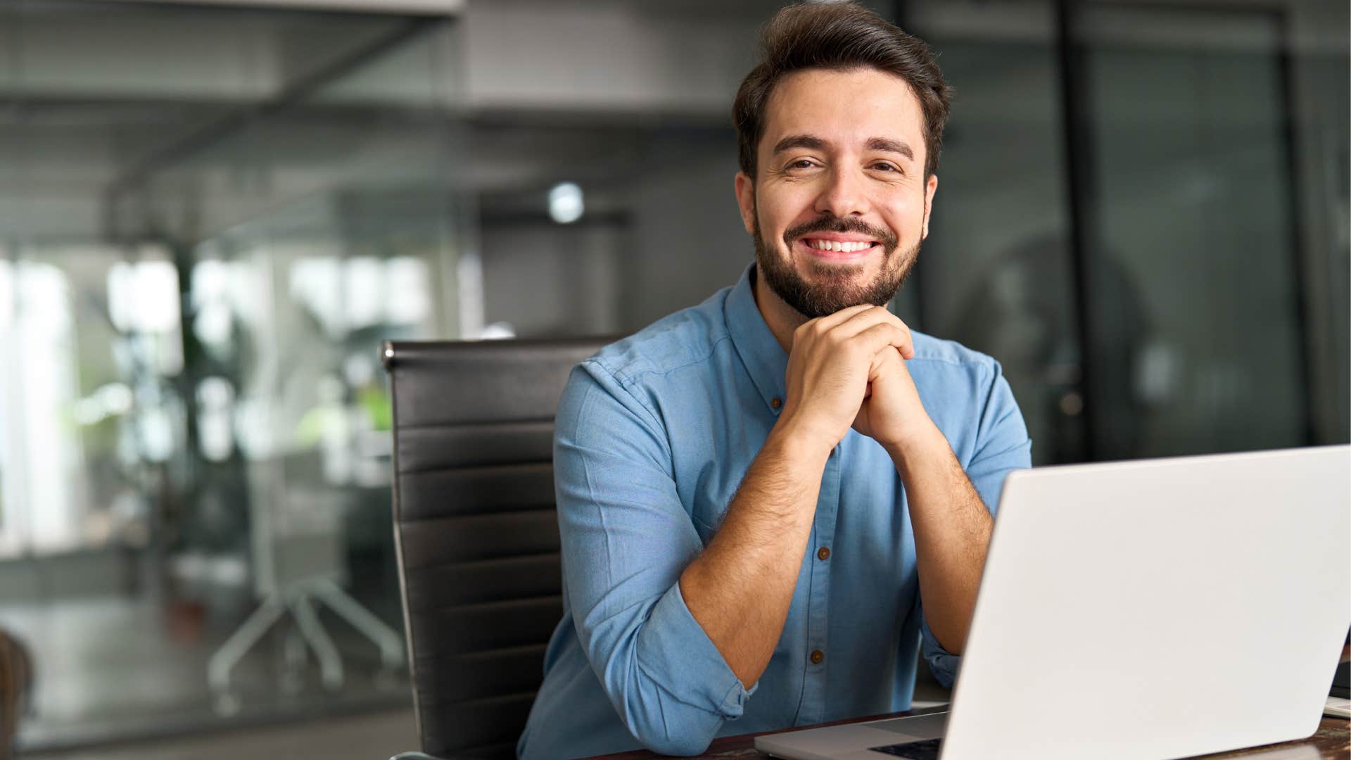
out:
{"label": "blue rolled-up sleeve on the arm nearest the laptop", "polygon": [[[989,380],[982,384],[984,404],[975,433],[975,453],[966,465],[966,476],[993,515],[998,507],[1004,479],[1015,469],[1032,467],[1032,441],[1027,437],[1023,412],[1013,400],[1013,389],[992,362]],[[934,671],[934,678],[951,688],[962,667],[962,657],[952,655],[934,637],[924,619],[924,604],[915,595],[915,611],[920,617],[920,653]]]}

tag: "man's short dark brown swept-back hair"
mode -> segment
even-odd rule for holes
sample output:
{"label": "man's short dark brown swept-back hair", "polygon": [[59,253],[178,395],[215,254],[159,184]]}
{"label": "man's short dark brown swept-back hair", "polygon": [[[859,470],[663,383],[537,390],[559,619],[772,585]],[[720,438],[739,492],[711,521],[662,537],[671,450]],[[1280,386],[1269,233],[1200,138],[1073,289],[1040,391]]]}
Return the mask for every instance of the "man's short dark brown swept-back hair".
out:
{"label": "man's short dark brown swept-back hair", "polygon": [[761,35],[762,62],[742,80],[732,103],[742,172],[755,179],[765,137],[765,104],[785,76],[804,69],[877,69],[911,85],[924,114],[924,177],[938,170],[951,88],[924,42],[852,3],[782,8]]}

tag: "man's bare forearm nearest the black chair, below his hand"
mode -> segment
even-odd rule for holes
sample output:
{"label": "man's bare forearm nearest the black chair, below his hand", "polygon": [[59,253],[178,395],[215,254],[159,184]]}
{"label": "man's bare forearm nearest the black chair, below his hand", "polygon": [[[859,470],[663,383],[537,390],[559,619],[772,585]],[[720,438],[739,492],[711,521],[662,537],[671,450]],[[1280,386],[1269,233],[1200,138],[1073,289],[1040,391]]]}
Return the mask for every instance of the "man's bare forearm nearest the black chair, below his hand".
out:
{"label": "man's bare forearm nearest the black chair, below his hand", "polygon": [[784,630],[830,449],[770,433],[723,525],[680,577],[690,614],[748,688]]}

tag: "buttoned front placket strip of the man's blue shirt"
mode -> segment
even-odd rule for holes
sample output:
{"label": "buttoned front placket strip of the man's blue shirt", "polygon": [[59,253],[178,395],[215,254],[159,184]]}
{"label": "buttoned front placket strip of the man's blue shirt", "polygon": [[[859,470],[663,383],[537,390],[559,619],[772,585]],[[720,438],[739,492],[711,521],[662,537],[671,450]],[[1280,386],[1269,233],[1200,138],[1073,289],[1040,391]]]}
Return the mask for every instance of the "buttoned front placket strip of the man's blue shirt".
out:
{"label": "buttoned front placket strip of the man's blue shirt", "polygon": [[802,678],[802,706],[797,725],[819,723],[825,719],[825,678],[831,665],[828,641],[831,565],[830,553],[835,544],[835,514],[840,500],[840,446],[835,446],[821,475],[821,491],[816,499],[816,521],[812,526],[812,545],[804,561],[811,563],[811,592],[807,598],[807,652]]}

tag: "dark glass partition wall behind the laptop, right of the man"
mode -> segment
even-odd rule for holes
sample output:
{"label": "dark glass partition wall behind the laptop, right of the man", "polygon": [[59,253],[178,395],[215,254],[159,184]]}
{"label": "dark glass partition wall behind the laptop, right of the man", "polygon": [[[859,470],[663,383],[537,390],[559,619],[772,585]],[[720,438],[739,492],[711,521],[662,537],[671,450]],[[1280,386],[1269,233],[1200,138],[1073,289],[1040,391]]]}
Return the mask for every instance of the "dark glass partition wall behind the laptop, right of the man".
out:
{"label": "dark glass partition wall behind the laptop, right of the man", "polygon": [[902,3],[955,88],[897,311],[1035,464],[1343,442],[1347,7]]}

